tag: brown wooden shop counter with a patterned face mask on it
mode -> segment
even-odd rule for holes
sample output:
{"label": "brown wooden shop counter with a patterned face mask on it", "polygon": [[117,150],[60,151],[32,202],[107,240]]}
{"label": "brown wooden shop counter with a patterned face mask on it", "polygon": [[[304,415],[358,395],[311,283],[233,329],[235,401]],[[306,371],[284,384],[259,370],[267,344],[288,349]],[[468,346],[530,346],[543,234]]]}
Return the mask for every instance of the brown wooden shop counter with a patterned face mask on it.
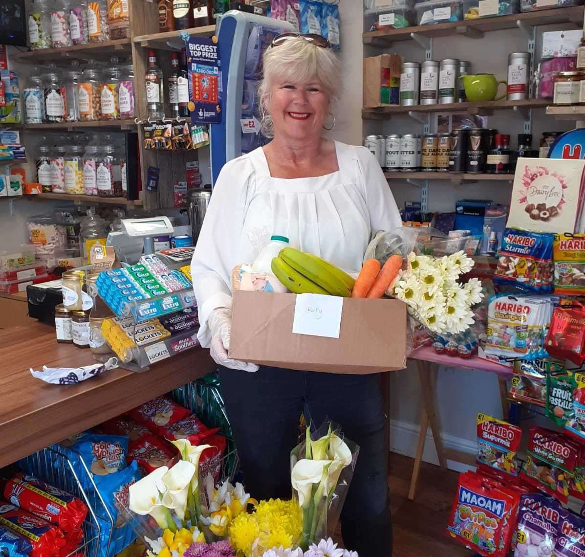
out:
{"label": "brown wooden shop counter with a patterned face mask on it", "polygon": [[86,366],[94,359],[88,349],[57,343],[55,329],[36,321],[0,331],[0,362],[0,467],[216,367],[208,350],[195,348],[144,373],[114,369],[77,385],[50,385],[34,379],[29,368]]}

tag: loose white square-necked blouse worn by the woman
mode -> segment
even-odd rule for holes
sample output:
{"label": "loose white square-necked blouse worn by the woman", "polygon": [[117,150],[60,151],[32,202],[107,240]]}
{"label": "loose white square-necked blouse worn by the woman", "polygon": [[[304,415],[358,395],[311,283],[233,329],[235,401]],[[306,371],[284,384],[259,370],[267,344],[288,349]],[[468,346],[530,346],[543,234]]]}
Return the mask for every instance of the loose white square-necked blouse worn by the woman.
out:
{"label": "loose white square-necked blouse worn by the woman", "polygon": [[209,314],[232,307],[232,269],[252,263],[270,236],[341,269],[360,270],[372,232],[402,221],[380,164],[365,147],[335,142],[339,170],[314,178],[273,178],[264,150],[225,164],[215,183],[191,261],[199,342]]}

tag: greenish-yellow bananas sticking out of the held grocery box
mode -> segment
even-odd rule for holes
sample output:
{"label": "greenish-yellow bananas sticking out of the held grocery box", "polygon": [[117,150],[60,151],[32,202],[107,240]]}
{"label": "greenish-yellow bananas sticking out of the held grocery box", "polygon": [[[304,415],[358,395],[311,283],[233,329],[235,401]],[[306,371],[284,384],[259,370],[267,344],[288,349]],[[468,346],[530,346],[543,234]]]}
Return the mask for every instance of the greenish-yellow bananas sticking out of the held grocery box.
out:
{"label": "greenish-yellow bananas sticking out of the held grocery box", "polygon": [[271,264],[272,272],[294,294],[329,294],[349,298],[355,280],[335,265],[310,253],[285,247]]}

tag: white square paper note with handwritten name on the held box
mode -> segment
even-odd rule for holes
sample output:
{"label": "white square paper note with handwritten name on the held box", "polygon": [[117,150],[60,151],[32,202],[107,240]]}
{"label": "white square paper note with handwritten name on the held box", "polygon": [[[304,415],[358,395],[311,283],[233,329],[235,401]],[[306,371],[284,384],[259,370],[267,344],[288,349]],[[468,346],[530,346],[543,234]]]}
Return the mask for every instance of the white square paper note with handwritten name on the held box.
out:
{"label": "white square paper note with handwritten name on the held box", "polygon": [[323,294],[298,294],[292,332],[297,335],[339,338],[343,298]]}

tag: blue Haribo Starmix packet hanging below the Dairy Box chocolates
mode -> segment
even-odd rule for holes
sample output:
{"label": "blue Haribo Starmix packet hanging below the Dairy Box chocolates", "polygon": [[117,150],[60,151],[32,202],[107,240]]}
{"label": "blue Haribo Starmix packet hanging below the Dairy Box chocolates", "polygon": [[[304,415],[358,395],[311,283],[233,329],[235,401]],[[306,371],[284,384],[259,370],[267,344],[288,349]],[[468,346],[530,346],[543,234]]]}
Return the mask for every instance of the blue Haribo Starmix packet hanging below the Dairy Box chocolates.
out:
{"label": "blue Haribo Starmix packet hanging below the Dairy Box chocolates", "polygon": [[506,228],[494,283],[546,294],[553,290],[554,235]]}

